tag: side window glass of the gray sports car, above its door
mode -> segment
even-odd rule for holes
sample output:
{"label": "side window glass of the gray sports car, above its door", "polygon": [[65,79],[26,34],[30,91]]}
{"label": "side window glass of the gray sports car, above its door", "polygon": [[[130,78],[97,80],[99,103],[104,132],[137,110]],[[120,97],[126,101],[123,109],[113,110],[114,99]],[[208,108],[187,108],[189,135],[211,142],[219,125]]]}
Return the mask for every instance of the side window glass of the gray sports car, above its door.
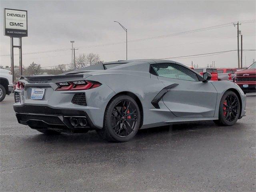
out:
{"label": "side window glass of the gray sports car, above its door", "polygon": [[188,68],[174,63],[152,64],[152,67],[160,77],[199,81],[196,73]]}

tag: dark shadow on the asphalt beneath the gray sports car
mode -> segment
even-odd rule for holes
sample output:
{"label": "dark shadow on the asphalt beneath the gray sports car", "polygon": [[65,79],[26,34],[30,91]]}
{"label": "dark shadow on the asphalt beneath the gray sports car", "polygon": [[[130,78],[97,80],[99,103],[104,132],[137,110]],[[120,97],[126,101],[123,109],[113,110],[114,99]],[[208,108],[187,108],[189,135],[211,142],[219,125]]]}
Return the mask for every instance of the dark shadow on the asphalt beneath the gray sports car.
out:
{"label": "dark shadow on the asphalt beneath the gray sports car", "polygon": [[[239,123],[235,126],[239,128]],[[226,128],[226,127],[225,127]],[[214,124],[213,121],[193,122],[186,124],[175,124],[170,126],[154,127],[139,130],[136,136],[126,143],[134,142],[152,142],[154,140],[170,140],[170,138],[182,138],[191,134],[191,132],[200,132],[200,136],[209,134],[208,132],[218,131],[221,127]],[[28,142],[47,142],[47,143],[63,143],[63,144],[105,144],[105,145],[123,145],[124,143],[107,142],[100,138],[96,131],[87,133],[68,134],[62,133],[59,135],[36,134],[27,138]]]}

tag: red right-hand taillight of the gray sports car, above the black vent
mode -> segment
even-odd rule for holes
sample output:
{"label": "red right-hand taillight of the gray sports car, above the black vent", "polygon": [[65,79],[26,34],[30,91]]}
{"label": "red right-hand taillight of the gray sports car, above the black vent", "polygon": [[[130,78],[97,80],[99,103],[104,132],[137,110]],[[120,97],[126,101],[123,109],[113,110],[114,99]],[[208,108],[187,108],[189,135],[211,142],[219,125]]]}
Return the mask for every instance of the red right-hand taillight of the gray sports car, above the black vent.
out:
{"label": "red right-hand taillight of the gray sports car, above the black vent", "polygon": [[101,86],[102,84],[96,81],[73,81],[57,83],[56,91],[74,91],[74,90],[88,90]]}

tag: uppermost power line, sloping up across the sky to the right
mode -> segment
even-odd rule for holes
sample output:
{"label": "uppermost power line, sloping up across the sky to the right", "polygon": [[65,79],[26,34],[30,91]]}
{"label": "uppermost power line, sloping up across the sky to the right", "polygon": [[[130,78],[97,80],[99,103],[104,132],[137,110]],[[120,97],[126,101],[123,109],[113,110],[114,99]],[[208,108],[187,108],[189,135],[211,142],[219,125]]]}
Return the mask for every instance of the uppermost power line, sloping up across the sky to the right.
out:
{"label": "uppermost power line, sloping up across the sky to the right", "polygon": [[[241,21],[240,23],[251,23],[251,22],[256,22],[256,20],[244,20],[244,21]],[[158,38],[166,38],[166,37],[170,37],[170,36],[189,34],[189,33],[211,30],[211,29],[216,29],[216,28],[222,28],[222,27],[232,26],[232,25],[233,25],[233,23],[226,23],[226,24],[220,24],[220,25],[215,25],[215,26],[209,26],[209,27],[206,27],[206,28],[199,28],[199,29],[195,29],[195,30],[188,30],[188,31],[184,31],[184,32],[162,35],[162,36],[154,36],[154,37],[149,37],[149,38],[141,38],[141,39],[136,39],[136,40],[130,40],[128,42],[139,42],[139,41],[145,41],[145,40],[154,40],[154,39],[158,39]],[[98,45],[91,45],[91,46],[79,46],[77,48],[94,48],[94,47],[99,47],[99,46],[110,46],[110,45],[117,45],[117,44],[124,44],[124,43],[126,43],[126,42],[114,42],[114,43],[98,44]],[[28,53],[23,53],[23,55],[41,54],[41,53],[49,53],[49,52],[60,52],[60,51],[67,51],[67,50],[70,50],[70,49],[69,48],[64,48],[64,49],[47,50],[47,51],[40,51],[40,52],[28,52]],[[0,56],[9,56],[9,54],[0,55]]]}

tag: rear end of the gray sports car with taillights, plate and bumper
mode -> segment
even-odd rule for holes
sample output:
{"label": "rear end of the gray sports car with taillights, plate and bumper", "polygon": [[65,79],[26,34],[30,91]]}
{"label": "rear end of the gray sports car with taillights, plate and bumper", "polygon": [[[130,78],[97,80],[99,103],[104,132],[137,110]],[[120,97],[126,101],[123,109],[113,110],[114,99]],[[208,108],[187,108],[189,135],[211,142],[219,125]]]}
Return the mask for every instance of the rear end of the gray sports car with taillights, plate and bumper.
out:
{"label": "rear end of the gray sports car with taillights, plate and bumper", "polygon": [[[102,128],[106,85],[91,74],[21,77],[14,90],[14,111],[20,124],[34,129],[87,132]],[[102,98],[102,92],[106,98]]]}

